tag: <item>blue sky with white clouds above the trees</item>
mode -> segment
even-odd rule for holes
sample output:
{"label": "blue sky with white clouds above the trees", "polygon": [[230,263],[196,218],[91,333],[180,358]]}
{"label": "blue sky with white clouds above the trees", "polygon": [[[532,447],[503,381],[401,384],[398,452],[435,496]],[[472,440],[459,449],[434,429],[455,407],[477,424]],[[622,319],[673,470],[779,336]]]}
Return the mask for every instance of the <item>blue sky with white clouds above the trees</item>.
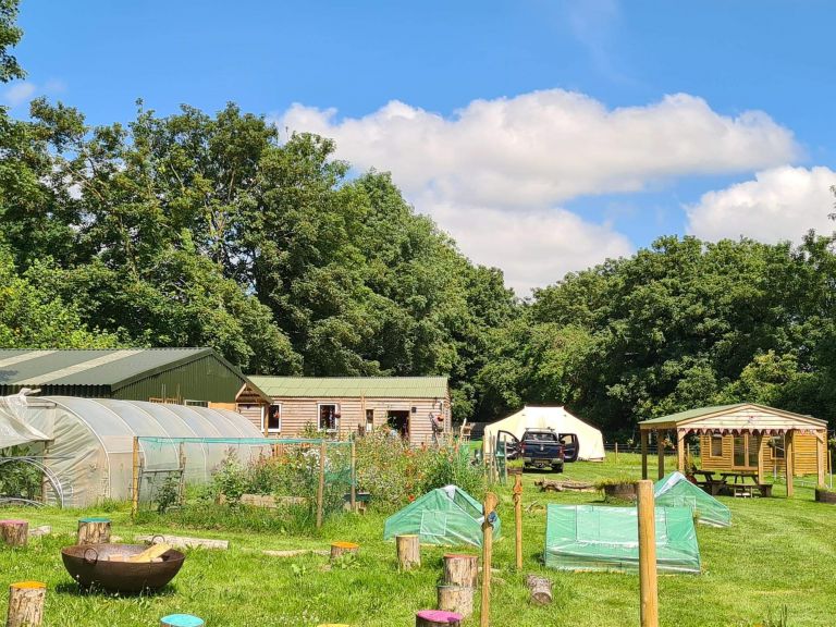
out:
{"label": "blue sky with white clouds above the trees", "polygon": [[521,295],[656,236],[829,230],[833,2],[23,0],[25,82],[90,123],[233,100],[390,170]]}

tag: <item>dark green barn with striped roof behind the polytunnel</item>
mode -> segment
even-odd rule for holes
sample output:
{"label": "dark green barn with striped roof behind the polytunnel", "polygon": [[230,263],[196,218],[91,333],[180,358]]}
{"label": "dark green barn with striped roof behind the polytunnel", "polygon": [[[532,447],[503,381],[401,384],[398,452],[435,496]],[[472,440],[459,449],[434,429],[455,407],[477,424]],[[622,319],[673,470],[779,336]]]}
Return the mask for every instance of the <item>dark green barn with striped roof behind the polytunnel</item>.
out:
{"label": "dark green barn with striped roof behind the polytunnel", "polygon": [[23,388],[88,398],[234,403],[248,383],[212,348],[0,351],[0,396]]}

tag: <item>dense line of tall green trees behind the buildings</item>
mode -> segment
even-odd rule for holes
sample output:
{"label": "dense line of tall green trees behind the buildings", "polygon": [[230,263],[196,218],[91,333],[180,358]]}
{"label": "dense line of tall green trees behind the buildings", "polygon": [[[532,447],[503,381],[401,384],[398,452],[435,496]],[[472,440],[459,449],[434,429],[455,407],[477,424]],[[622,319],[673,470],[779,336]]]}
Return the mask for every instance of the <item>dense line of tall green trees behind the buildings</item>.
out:
{"label": "dense line of tall green trees behind the buildings", "polygon": [[[24,75],[16,4],[0,0],[2,83]],[[519,300],[328,138],[280,138],[235,104],[160,116],[138,101],[99,126],[45,99],[29,113],[0,108],[0,347],[446,374],[458,419],[563,404],[611,431],[739,401],[834,413],[832,237],[662,237]]]}

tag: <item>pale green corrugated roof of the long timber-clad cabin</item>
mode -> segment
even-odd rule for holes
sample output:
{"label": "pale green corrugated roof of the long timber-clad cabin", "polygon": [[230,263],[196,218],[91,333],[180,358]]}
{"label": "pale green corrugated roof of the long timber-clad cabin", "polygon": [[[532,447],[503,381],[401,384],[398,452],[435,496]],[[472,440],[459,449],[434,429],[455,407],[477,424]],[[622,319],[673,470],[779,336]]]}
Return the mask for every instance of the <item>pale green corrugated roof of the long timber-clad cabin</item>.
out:
{"label": "pale green corrugated roof of the long timber-clad cabin", "polygon": [[446,398],[446,377],[248,377],[269,396]]}

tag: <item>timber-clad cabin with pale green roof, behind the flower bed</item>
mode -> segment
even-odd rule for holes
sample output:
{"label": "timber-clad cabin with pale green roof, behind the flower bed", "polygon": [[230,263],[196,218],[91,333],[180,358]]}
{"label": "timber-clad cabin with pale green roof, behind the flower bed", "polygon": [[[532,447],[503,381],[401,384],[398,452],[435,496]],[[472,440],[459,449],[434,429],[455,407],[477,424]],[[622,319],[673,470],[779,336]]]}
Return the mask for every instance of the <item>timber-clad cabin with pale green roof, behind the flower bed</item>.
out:
{"label": "timber-clad cabin with pale green roof, behind the flower bed", "polygon": [[267,438],[306,426],[347,437],[389,427],[410,444],[433,441],[432,420],[451,430],[446,377],[249,377],[236,409]]}

